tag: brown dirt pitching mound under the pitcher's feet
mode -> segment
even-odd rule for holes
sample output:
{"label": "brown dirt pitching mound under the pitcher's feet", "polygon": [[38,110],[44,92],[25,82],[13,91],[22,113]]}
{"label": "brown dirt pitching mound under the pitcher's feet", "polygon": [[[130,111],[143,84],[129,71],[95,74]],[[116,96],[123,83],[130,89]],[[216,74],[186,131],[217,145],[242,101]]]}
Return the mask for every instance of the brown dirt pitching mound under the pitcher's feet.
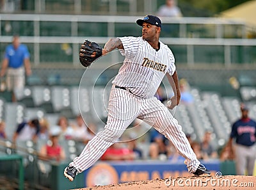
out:
{"label": "brown dirt pitching mound under the pitcher's feet", "polygon": [[232,190],[232,189],[255,189],[256,177],[226,175],[223,177],[182,177],[130,182],[124,184],[113,184],[108,186],[87,187],[79,190],[123,190],[123,189],[211,189],[211,190]]}

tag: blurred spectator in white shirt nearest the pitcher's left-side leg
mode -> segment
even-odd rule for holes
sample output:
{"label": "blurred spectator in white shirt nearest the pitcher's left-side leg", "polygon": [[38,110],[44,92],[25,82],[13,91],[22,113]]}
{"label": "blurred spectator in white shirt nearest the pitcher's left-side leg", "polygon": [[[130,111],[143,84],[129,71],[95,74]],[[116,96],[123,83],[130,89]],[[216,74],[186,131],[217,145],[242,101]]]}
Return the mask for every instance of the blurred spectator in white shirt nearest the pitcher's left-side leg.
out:
{"label": "blurred spectator in white shirt nearest the pitcher's left-side leg", "polygon": [[73,130],[73,139],[88,143],[88,141],[90,141],[90,139],[95,136],[97,127],[94,123],[88,123],[88,126],[86,126],[83,117],[81,115],[78,115],[76,117],[76,123],[73,126]]}

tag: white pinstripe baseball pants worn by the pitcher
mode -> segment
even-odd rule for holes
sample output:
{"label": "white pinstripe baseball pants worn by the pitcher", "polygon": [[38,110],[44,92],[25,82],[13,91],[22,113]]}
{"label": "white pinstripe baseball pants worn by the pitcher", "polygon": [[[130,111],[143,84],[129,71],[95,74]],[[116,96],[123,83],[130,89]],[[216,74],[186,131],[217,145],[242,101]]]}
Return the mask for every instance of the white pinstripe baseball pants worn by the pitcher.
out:
{"label": "white pinstripe baseball pants worn by the pitcher", "polygon": [[108,121],[104,131],[100,131],[84,147],[83,152],[70,162],[79,173],[92,166],[104,154],[109,146],[120,138],[125,129],[140,118],[152,125],[157,131],[172,141],[177,152],[185,157],[188,171],[193,173],[200,162],[189,145],[188,139],[177,120],[173,118],[168,108],[156,97],[141,99],[120,88],[112,88],[109,105]]}

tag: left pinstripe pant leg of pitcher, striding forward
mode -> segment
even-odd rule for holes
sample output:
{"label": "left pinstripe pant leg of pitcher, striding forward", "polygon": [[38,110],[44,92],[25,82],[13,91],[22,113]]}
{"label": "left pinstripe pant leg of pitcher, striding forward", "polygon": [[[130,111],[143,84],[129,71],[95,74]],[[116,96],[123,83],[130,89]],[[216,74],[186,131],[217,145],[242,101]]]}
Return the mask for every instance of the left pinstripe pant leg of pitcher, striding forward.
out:
{"label": "left pinstripe pant leg of pitcher, striding forward", "polygon": [[140,98],[113,86],[109,96],[108,111],[108,121],[104,131],[98,132],[87,143],[79,157],[70,163],[70,166],[74,166],[79,172],[92,166],[135,120],[140,113]]}

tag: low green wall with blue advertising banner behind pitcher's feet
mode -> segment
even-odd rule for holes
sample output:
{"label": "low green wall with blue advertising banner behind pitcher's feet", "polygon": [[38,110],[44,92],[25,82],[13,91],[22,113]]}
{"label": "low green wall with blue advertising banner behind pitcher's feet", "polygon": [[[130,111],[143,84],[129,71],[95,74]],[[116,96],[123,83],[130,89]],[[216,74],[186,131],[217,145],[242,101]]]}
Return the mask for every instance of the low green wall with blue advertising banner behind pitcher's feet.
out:
{"label": "low green wall with blue advertising banner behind pitcher's feet", "polygon": [[[222,175],[236,175],[235,165],[232,161],[220,162],[218,160],[202,162],[212,175],[221,172]],[[97,162],[94,166],[77,175],[74,182],[69,182],[63,176],[67,164],[52,166],[51,189],[63,190],[106,184],[118,184],[137,180],[150,180],[156,178],[188,177],[186,165],[183,162],[169,161],[126,161],[126,162]],[[256,175],[256,173],[255,173]]]}

